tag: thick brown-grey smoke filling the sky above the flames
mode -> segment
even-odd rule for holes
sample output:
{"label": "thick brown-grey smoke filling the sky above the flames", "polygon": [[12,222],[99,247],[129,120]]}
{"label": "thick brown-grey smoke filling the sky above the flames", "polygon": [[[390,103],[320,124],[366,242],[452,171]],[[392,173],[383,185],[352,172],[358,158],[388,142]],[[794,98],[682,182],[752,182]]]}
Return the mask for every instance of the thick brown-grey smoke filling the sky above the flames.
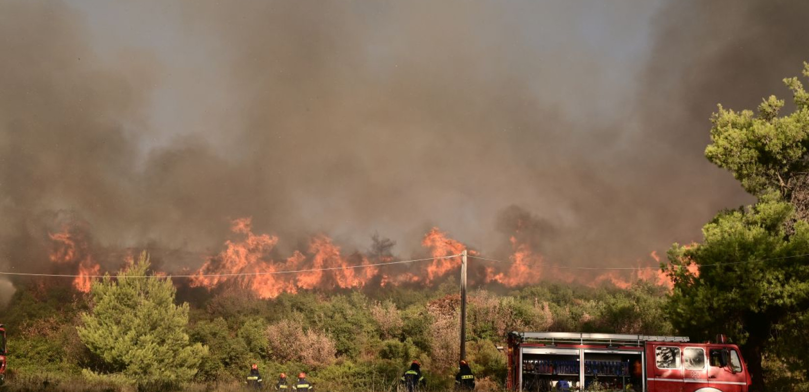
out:
{"label": "thick brown-grey smoke filling the sky above the flames", "polygon": [[437,226],[504,259],[516,238],[636,265],[751,201],[703,157],[709,116],[789,98],[807,11],[2,2],[0,268],[44,266],[70,222],[215,255],[244,217],[286,255],[316,234],[413,255]]}

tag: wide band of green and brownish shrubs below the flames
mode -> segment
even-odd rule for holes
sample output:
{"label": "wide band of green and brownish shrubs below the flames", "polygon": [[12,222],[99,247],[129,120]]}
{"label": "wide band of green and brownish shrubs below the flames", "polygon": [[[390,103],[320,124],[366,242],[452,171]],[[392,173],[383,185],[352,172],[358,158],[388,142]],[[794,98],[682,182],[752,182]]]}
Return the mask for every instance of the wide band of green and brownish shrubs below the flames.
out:
{"label": "wide band of green and brownish shrubs below the flames", "polygon": [[[124,285],[125,281],[119,279],[118,283]],[[467,351],[479,378],[478,390],[501,390],[506,357],[498,346],[505,345],[508,331],[669,334],[671,324],[663,313],[666,293],[664,288],[643,282],[628,290],[551,283],[509,293],[472,290],[468,296]],[[99,295],[100,289],[95,287],[92,296],[40,285],[19,289],[2,312],[8,327],[11,378],[83,377],[130,388],[154,386],[160,381],[160,374],[129,369],[125,365],[129,359],[116,357],[114,352],[125,349],[121,343],[125,338],[100,331],[103,326],[92,322],[102,302]],[[112,295],[108,289],[106,295]],[[128,294],[116,295],[118,302],[134,301],[121,297]],[[173,288],[171,295],[173,298]],[[199,358],[163,365],[169,362],[159,358],[159,352],[138,353],[140,368],[155,366],[176,372],[161,373],[175,386],[238,384],[250,364],[257,363],[269,382],[279,373],[293,377],[303,371],[320,390],[391,390],[414,359],[421,362],[432,390],[446,390],[454,380],[460,326],[456,284],[429,290],[304,292],[269,300],[230,289],[193,302],[182,326],[187,342],[182,343],[180,337],[159,346],[180,352],[197,344],[204,348]],[[135,318],[150,317],[143,309],[133,314],[115,310],[118,314],[114,317],[137,323]],[[172,311],[182,313],[179,307]],[[164,314],[157,312],[158,317],[165,318]],[[138,342],[132,344],[132,349],[137,349],[134,346]],[[106,347],[108,352],[99,347]],[[190,362],[193,376],[182,377],[184,370],[178,367]]]}

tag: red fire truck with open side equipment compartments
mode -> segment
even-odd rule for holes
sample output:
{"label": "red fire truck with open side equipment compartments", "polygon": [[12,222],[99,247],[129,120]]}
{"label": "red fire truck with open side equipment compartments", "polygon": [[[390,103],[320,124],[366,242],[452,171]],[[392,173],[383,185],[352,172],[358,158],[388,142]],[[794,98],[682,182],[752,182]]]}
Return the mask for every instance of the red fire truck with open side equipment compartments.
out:
{"label": "red fire truck with open side equipment compartments", "polygon": [[514,391],[748,392],[739,348],[684,336],[510,332],[506,386]]}

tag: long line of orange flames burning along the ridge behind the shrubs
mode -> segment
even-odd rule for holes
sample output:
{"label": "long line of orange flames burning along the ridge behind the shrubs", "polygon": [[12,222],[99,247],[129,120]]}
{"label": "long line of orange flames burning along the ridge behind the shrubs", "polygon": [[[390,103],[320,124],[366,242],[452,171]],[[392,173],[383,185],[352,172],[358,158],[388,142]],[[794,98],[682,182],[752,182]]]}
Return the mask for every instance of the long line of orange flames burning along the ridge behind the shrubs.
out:
{"label": "long line of orange flames burning along the ridge behind the shrubs", "polygon": [[[381,287],[396,285],[434,285],[460,268],[459,255],[468,247],[450,238],[437,227],[429,230],[421,245],[432,257],[426,262],[403,264],[402,266],[377,266],[375,263],[394,261],[392,255],[375,255],[369,258],[361,252],[345,254],[341,247],[323,234],[309,239],[307,247],[293,251],[288,257],[277,251],[279,238],[272,234],[256,234],[249,217],[231,222],[232,238],[224,242],[217,255],[207,257],[201,268],[193,274],[190,285],[214,289],[246,289],[256,297],[274,298],[281,293],[298,293],[309,289],[359,289],[368,285]],[[71,268],[74,288],[89,292],[93,278],[101,274],[101,266],[95,262],[86,238],[77,230],[63,230],[49,234],[53,248],[49,258],[54,266]],[[565,283],[601,285],[609,283],[621,289],[628,289],[637,280],[645,280],[668,288],[673,287],[666,272],[659,268],[638,267],[630,272],[608,271],[594,275],[578,273],[578,270],[558,268],[549,263],[539,252],[532,249],[530,241],[520,230],[510,237],[510,263],[493,263],[470,259],[469,280],[472,285],[494,283],[506,287],[536,284],[543,279],[553,279]],[[468,250],[468,255],[477,255]],[[655,252],[651,258],[659,264]],[[132,257],[127,257],[132,263]],[[697,266],[687,264],[693,274],[698,274]],[[406,268],[406,269],[404,269]],[[548,271],[545,271],[548,270]],[[166,272],[155,272],[167,276]]]}

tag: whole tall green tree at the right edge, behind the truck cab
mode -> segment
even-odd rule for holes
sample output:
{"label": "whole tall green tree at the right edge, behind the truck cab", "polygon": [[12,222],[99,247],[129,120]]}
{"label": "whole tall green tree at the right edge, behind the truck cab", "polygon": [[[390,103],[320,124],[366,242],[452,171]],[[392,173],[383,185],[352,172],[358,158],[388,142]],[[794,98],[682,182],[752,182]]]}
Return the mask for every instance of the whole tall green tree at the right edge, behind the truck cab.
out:
{"label": "whole tall green tree at the right edge, behind the truck cab", "polygon": [[[809,78],[807,63],[803,74]],[[720,106],[711,119],[706,157],[731,171],[756,204],[719,213],[703,242],[668,253],[676,266],[698,267],[668,270],[672,323],[696,339],[730,335],[756,390],[764,389],[764,356],[803,372],[809,365],[807,352],[795,349],[806,347],[809,327],[809,94],[797,78],[784,82],[794,112],[779,116],[784,101],[771,96],[757,116]]]}

